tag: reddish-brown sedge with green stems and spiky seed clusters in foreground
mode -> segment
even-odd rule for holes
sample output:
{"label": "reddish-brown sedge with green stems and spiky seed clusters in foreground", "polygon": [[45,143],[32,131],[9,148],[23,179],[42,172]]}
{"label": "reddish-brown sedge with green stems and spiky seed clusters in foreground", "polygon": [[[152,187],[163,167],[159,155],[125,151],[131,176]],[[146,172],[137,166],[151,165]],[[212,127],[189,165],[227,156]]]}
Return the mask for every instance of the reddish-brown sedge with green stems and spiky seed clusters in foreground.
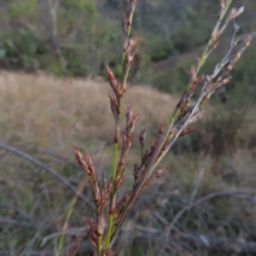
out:
{"label": "reddish-brown sedge with green stems and spiky seed clusters in foreground", "polygon": [[[90,178],[93,200],[96,207],[95,218],[86,218],[87,226],[85,232],[95,250],[96,255],[113,255],[113,243],[119,236],[119,231],[125,222],[127,214],[137,200],[138,195],[155,178],[159,178],[165,171],[165,167],[159,167],[160,161],[164,158],[168,150],[178,137],[194,131],[193,125],[201,118],[202,107],[210,96],[230,82],[230,72],[236,61],[247,49],[251,40],[256,36],[256,32],[247,36],[243,40],[236,39],[239,25],[235,19],[243,12],[243,7],[230,9],[232,0],[219,1],[219,13],[216,25],[208,40],[201,57],[197,59],[195,66],[190,68],[189,83],[177,107],[170,113],[170,118],[160,124],[159,135],[154,138],[149,148],[145,149],[146,131],[142,129],[138,138],[142,150],[140,163],[134,164],[133,177],[134,184],[125,195],[117,200],[119,188],[123,184],[125,164],[131,148],[131,138],[135,130],[138,114],[134,112],[133,105],[130,104],[122,114],[123,102],[126,90],[126,81],[131,68],[132,61],[137,53],[137,35],[131,37],[132,17],[135,13],[137,1],[130,0],[130,9],[127,13],[122,13],[122,29],[124,33],[124,47],[122,54],[122,78],[116,79],[108,64],[105,63],[106,76],[108,78],[112,94],[109,96],[110,108],[113,113],[114,132],[113,132],[113,166],[112,177],[108,180],[103,177],[100,185],[96,175],[96,169],[88,151],[81,153],[78,148],[74,148],[76,159],[79,166]],[[229,11],[230,9],[230,11]],[[201,67],[207,61],[207,57],[218,47],[221,34],[226,27],[232,23],[232,37],[230,47],[224,58],[217,63],[212,73],[201,73]],[[191,103],[191,96],[195,91],[199,91],[197,99]],[[163,108],[166,108],[163,106]],[[121,119],[125,118],[125,127],[121,128]],[[108,201],[108,203],[107,203]],[[78,244],[70,249],[70,255],[74,255],[78,249]]]}

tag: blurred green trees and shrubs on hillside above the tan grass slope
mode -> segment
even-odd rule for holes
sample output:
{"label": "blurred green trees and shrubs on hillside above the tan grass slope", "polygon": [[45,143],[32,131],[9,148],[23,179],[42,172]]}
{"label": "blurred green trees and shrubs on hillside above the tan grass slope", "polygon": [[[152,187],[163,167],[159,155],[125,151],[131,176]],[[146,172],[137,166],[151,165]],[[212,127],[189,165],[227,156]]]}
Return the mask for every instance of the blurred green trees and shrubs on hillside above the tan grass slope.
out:
{"label": "blurred green trees and shrubs on hillside above the tan grass slope", "polygon": [[[2,0],[0,10],[1,67],[55,75],[87,77],[104,73],[108,61],[118,76],[122,38],[120,10],[127,0]],[[234,1],[247,9],[237,20],[240,36],[256,26],[255,1]],[[201,53],[218,14],[216,0],[141,0],[137,3],[132,33],[139,34],[137,60],[131,79],[175,93],[183,90],[188,67]],[[230,28],[231,30],[231,28]],[[230,38],[230,31],[226,37]],[[217,61],[227,48],[218,50]],[[233,82],[255,91],[256,46],[239,62]],[[250,65],[247,65],[250,59]],[[214,62],[215,63],[215,62]],[[246,86],[244,86],[246,85]],[[241,95],[241,91],[239,92]]]}

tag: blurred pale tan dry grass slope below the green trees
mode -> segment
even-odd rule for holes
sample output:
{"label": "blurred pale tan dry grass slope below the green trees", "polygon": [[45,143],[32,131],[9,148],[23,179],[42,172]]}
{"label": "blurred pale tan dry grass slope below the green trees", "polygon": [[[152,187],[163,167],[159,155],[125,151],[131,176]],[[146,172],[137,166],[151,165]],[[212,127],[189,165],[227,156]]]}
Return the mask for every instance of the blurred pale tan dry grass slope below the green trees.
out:
{"label": "blurred pale tan dry grass slope below the green trees", "polygon": [[[70,148],[84,141],[109,142],[113,117],[109,85],[101,78],[56,79],[44,73],[0,73],[0,136],[5,142]],[[125,106],[139,109],[138,130],[168,118],[177,100],[148,86],[128,86]],[[139,131],[137,131],[138,134]]]}

